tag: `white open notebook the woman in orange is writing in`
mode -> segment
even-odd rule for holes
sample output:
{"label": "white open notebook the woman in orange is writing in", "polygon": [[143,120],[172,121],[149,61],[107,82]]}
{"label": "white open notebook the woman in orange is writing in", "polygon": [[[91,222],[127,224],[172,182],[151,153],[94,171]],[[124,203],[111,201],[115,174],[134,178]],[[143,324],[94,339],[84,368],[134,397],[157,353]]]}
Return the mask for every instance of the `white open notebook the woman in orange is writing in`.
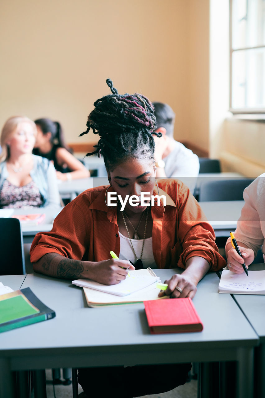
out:
{"label": "white open notebook the woman in orange is writing in", "polygon": [[86,287],[115,296],[127,296],[140,291],[160,281],[151,268],[130,271],[126,279],[117,285],[103,285],[90,279],[76,279],[72,283],[76,286]]}

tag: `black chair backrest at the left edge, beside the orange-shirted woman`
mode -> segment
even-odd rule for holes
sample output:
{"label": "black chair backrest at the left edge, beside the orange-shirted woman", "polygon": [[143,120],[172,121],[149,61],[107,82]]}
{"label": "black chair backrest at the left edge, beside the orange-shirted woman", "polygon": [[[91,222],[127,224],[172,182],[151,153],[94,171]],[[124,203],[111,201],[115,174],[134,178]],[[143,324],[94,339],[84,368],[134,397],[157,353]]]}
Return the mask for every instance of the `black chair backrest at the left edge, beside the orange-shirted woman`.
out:
{"label": "black chair backrest at the left edge, beside the orange-shirted woman", "polygon": [[25,274],[25,258],[20,221],[0,218],[0,275],[21,274]]}

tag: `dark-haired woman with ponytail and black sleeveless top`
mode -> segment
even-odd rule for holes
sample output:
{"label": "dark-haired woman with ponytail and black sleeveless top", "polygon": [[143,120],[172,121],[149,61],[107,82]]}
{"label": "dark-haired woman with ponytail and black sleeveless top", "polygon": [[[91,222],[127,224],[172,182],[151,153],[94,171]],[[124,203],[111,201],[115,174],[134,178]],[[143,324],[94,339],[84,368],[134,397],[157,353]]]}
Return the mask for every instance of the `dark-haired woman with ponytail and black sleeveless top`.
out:
{"label": "dark-haired woman with ponytail and black sleeveless top", "polygon": [[35,120],[35,124],[37,139],[33,153],[53,161],[58,179],[70,181],[90,177],[89,170],[72,155],[70,148],[65,144],[59,122],[42,118]]}

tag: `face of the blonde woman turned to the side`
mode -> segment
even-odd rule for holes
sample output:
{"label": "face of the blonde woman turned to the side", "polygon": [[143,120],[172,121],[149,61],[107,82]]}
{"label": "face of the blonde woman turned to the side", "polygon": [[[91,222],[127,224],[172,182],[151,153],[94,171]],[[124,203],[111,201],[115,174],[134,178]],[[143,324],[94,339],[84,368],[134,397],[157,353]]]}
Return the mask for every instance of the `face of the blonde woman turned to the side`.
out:
{"label": "face of the blonde woman turned to the side", "polygon": [[28,122],[18,123],[12,137],[6,142],[11,151],[18,154],[31,153],[35,144],[36,131]]}

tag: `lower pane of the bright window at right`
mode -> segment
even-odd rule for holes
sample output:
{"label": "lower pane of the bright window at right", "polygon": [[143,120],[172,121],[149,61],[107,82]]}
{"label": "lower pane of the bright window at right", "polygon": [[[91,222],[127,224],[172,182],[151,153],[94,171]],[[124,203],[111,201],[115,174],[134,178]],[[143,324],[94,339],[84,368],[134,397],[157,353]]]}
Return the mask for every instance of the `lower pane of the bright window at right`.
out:
{"label": "lower pane of the bright window at right", "polygon": [[265,107],[265,48],[232,54],[232,108]]}

